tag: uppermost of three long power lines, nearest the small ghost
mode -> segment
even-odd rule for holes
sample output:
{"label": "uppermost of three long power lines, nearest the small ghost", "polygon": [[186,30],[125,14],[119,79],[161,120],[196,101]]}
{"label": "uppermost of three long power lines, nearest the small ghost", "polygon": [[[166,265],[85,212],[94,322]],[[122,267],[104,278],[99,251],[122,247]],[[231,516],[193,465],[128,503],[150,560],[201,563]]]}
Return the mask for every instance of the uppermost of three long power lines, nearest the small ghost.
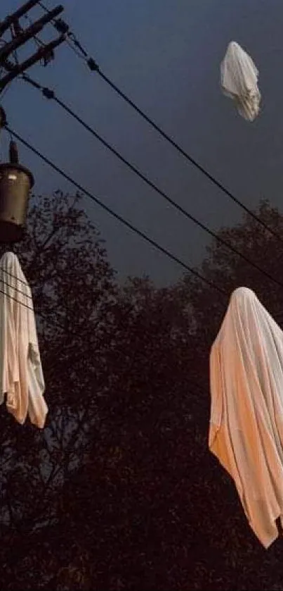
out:
{"label": "uppermost of three long power lines, nearest the small ghost", "polygon": [[[44,11],[46,11],[48,13],[51,12],[43,4],[43,2],[39,1],[39,5],[41,6],[41,8],[43,8]],[[232,199],[232,201],[234,201],[235,204],[237,204],[241,209],[243,209],[246,213],[248,213],[249,216],[251,216],[251,218],[254,218],[254,220],[256,220],[256,222],[261,224],[261,226],[263,228],[265,228],[265,230],[270,232],[270,234],[273,237],[277,238],[277,240],[279,240],[279,242],[282,242],[282,244],[283,244],[283,239],[279,234],[277,234],[277,232],[275,232],[272,228],[270,228],[270,226],[268,224],[266,224],[264,220],[259,218],[256,215],[256,213],[254,213],[254,211],[252,211],[251,209],[249,209],[249,207],[244,205],[244,203],[242,203],[242,201],[240,201],[240,199],[237,199],[237,197],[235,197],[235,195],[233,195],[228,189],[226,189],[226,187],[220,181],[218,181],[213,175],[211,175],[211,173],[208,172],[208,170],[206,170],[201,164],[199,164],[195,160],[195,158],[192,158],[192,156],[190,156],[190,154],[188,154],[188,152],[185,151],[170,135],[168,135],[166,132],[164,132],[162,127],[157,125],[157,123],[155,123],[153,119],[151,119],[149,116],[147,116],[146,113],[140,107],[138,107],[138,105],[134,101],[132,101],[123,91],[121,91],[121,89],[119,89],[119,87],[117,85],[115,85],[114,82],[112,82],[112,80],[110,80],[110,78],[107,77],[107,75],[105,75],[102,70],[100,70],[98,63],[91,56],[88,55],[88,52],[86,51],[86,49],[84,49],[84,47],[81,46],[81,43],[78,41],[77,37],[74,35],[74,32],[70,31],[69,25],[67,25],[64,20],[53,19],[53,20],[51,20],[51,23],[53,23],[53,26],[57,30],[60,30],[59,23],[60,23],[61,27],[62,27],[62,25],[65,25],[65,31],[67,32],[67,37],[69,39],[68,45],[71,47],[71,49],[74,51],[74,53],[77,54],[77,56],[79,56],[79,58],[83,59],[86,62],[87,66],[91,70],[91,72],[98,73],[98,75],[100,75],[100,77],[103,78],[103,80],[105,82],[107,82],[107,85],[109,85],[114,90],[114,92],[117,92],[117,94],[119,94],[119,96],[122,99],[124,99],[124,101],[126,101],[145,121],[147,121],[147,123],[149,123],[149,125],[151,125],[154,128],[154,130],[156,130],[160,135],[162,135],[162,137],[164,137],[164,139],[166,139],[166,141],[169,142],[171,144],[171,146],[173,146],[176,150],[178,150],[178,152],[182,156],[184,156],[184,158],[188,162],[190,162],[193,166],[195,166],[195,168],[197,168],[199,170],[199,172],[201,172],[204,176],[206,176],[206,178],[208,178],[213,183],[213,185],[216,185],[216,187],[218,187],[218,189],[221,189],[221,191],[223,193],[225,193],[226,196],[229,197],[229,199]],[[72,45],[72,43],[74,45]],[[79,53],[79,52],[81,52],[81,53]]]}

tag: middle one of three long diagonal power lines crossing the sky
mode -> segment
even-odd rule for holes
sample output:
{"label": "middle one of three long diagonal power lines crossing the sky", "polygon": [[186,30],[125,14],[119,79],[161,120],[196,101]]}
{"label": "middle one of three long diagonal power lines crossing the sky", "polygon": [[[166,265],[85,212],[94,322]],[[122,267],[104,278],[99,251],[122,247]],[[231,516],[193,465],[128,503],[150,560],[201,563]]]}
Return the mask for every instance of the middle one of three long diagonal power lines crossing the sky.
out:
{"label": "middle one of three long diagonal power lines crossing the sky", "polygon": [[72,111],[72,109],[69,106],[67,106],[67,104],[65,104],[63,101],[58,99],[58,97],[56,97],[55,92],[52,89],[50,89],[48,87],[41,86],[39,84],[39,82],[32,80],[32,78],[30,78],[29,76],[27,76],[25,74],[22,75],[22,79],[25,80],[26,82],[29,82],[30,85],[32,85],[33,87],[40,90],[42,92],[42,94],[44,95],[44,97],[46,97],[46,99],[52,99],[58,105],[60,105],[64,109],[64,111],[66,111],[70,116],[72,116],[75,120],[77,120],[86,130],[91,132],[91,134],[94,137],[96,137],[96,139],[98,139],[98,141],[101,144],[103,144],[103,146],[105,146],[107,149],[109,149],[112,152],[112,154],[117,156],[117,158],[119,158],[119,160],[121,162],[123,162],[130,170],[132,170],[133,173],[135,173],[139,178],[141,178],[149,187],[154,189],[154,191],[157,192],[163,199],[165,199],[168,203],[170,203],[175,209],[180,211],[180,213],[182,213],[183,216],[185,216],[187,219],[189,219],[190,221],[195,223],[195,225],[198,225],[199,228],[202,228],[202,230],[204,230],[204,232],[206,232],[211,237],[216,239],[218,242],[223,244],[223,246],[225,246],[226,248],[230,249],[230,251],[232,251],[234,254],[237,254],[237,256],[241,257],[241,259],[243,259],[246,263],[249,263],[249,265],[251,265],[256,270],[258,270],[259,273],[262,273],[263,275],[265,275],[265,277],[268,278],[268,280],[276,283],[276,285],[279,285],[279,287],[283,287],[283,283],[281,281],[277,280],[275,277],[270,275],[270,273],[268,273],[268,271],[266,271],[263,268],[261,268],[260,266],[258,266],[258,264],[254,263],[254,261],[251,261],[251,259],[249,259],[248,256],[246,256],[241,251],[239,251],[238,249],[233,247],[233,245],[230,244],[230,242],[227,242],[221,236],[216,234],[216,232],[213,232],[213,230],[208,228],[204,223],[200,222],[197,218],[195,218],[195,216],[192,216],[191,213],[189,213],[186,209],[184,209],[182,206],[180,206],[178,203],[176,203],[176,201],[171,199],[171,197],[169,197],[168,194],[166,194],[164,191],[162,191],[162,189],[159,189],[159,187],[157,187],[157,185],[155,185],[155,183],[152,182],[146,175],[141,173],[140,170],[138,170],[138,168],[136,168],[136,166],[133,166],[133,164],[131,164],[128,160],[126,160],[126,158],[124,158],[124,156],[121,156],[119,151],[117,151],[117,149],[115,149],[109,142],[107,142],[102,136],[100,136],[98,134],[98,132],[96,132],[96,130],[93,129],[93,127],[90,127],[90,125],[88,125],[83,119],[81,119],[77,115],[77,113],[74,113],[74,111]]}

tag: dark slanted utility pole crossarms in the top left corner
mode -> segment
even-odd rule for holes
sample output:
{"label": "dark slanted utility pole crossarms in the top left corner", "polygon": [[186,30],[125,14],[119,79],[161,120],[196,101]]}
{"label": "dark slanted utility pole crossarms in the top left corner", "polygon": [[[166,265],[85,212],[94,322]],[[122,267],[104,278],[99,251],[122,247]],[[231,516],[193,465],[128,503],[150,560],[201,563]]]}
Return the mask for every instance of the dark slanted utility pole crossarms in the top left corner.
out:
{"label": "dark slanted utility pole crossarms in the top left corner", "polygon": [[[6,16],[4,20],[0,22],[0,97],[1,92],[4,88],[18,75],[24,73],[31,66],[39,61],[44,61],[44,65],[54,57],[54,49],[58,47],[62,42],[65,41],[65,32],[52,39],[51,42],[45,44],[41,42],[37,35],[41,32],[44,27],[55,20],[60,13],[64,10],[63,6],[58,5],[53,10],[44,14],[39,20],[33,22],[29,27],[25,28],[20,23],[20,19],[27,15],[27,13],[38,4],[38,0],[29,0],[13,14]],[[4,34],[10,35],[10,40],[6,41],[3,38]],[[34,39],[39,44],[39,49],[34,54],[25,59],[22,63],[18,60],[18,49],[25,46],[27,42]],[[4,74],[4,75],[3,75]]]}

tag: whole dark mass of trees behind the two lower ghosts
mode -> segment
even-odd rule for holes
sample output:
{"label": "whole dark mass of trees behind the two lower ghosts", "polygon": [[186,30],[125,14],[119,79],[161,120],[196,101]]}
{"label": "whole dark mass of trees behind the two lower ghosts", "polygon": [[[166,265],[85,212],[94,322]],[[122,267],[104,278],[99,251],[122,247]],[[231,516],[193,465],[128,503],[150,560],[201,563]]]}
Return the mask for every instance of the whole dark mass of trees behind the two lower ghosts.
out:
{"label": "whole dark mass of trees behind the two lower ghosts", "polygon": [[[84,214],[72,225],[72,201],[59,197],[66,228],[46,243],[53,259],[38,230],[21,251],[42,315],[51,416],[41,434],[3,415],[1,588],[283,588],[282,540],[261,547],[207,445],[209,350],[229,294],[251,287],[279,322],[281,287],[216,241],[202,273],[227,299],[191,276],[166,289],[148,278],[118,287]],[[53,199],[45,214],[32,210],[46,237]],[[283,235],[268,202],[258,215]],[[253,219],[219,234],[283,282],[282,244]]]}

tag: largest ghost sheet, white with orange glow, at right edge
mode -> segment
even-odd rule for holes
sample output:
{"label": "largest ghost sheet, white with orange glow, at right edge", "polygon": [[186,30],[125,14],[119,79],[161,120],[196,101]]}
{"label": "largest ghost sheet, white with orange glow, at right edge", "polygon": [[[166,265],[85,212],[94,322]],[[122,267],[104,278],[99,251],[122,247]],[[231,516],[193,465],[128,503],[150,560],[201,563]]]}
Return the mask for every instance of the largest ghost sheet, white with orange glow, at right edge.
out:
{"label": "largest ghost sheet, white with orange glow, at right edge", "polygon": [[283,525],[283,332],[246,287],[232,293],[211,348],[209,449],[237,487],[265,548]]}

